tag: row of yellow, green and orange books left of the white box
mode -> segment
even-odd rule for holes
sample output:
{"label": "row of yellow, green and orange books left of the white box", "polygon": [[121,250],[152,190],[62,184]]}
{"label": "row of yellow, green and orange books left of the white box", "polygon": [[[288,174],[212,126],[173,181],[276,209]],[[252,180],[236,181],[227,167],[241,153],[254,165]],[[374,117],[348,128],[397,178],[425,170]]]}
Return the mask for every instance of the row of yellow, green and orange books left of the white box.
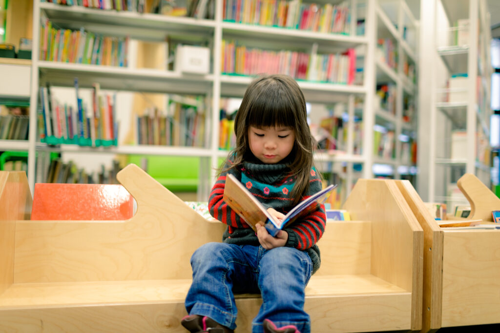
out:
{"label": "row of yellow, green and orange books left of the white box", "polygon": [[128,37],[57,28],[40,18],[40,60],[126,67],[128,44]]}

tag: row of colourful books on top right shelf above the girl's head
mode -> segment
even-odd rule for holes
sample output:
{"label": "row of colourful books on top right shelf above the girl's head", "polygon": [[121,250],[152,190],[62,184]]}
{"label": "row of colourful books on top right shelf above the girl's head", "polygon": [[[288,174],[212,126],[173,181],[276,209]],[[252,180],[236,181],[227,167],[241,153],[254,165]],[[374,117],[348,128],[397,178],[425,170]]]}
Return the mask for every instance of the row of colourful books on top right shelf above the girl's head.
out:
{"label": "row of colourful books on top right shelf above the girl's head", "polygon": [[222,19],[231,22],[349,33],[346,1],[320,5],[301,0],[224,0],[222,10]]}

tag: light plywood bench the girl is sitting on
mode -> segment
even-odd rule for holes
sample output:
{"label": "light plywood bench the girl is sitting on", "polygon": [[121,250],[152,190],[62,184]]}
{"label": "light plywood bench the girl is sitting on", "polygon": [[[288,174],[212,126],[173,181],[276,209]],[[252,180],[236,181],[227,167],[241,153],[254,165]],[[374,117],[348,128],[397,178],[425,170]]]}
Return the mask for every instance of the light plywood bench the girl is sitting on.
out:
{"label": "light plywood bench the girl is sitting on", "polygon": [[[30,221],[23,172],[0,172],[0,332],[185,332],[189,258],[220,241],[209,222],[131,164],[118,181],[137,201],[127,221]],[[329,221],[306,288],[312,332],[419,330],[423,231],[397,185],[359,180]],[[238,295],[236,332],[261,300]]]}

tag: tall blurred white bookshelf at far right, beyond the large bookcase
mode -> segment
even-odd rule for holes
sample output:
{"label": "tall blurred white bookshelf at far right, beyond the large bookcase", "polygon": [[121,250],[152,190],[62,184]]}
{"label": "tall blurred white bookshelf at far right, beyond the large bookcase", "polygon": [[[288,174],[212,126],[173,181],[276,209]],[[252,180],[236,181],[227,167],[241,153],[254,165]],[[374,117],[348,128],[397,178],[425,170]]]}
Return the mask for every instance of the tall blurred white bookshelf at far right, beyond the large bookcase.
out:
{"label": "tall blurred white bookshelf at far right, beyond the large bookcase", "polygon": [[[490,25],[485,0],[435,0],[422,4],[432,8],[425,17],[426,35],[420,71],[420,109],[428,110],[420,127],[428,140],[421,151],[419,169],[428,178],[418,184],[426,201],[443,202],[452,210],[467,201],[456,187],[464,173],[484,184],[490,182],[489,116]],[[428,118],[427,118],[428,116]],[[424,131],[422,128],[421,131]]]}

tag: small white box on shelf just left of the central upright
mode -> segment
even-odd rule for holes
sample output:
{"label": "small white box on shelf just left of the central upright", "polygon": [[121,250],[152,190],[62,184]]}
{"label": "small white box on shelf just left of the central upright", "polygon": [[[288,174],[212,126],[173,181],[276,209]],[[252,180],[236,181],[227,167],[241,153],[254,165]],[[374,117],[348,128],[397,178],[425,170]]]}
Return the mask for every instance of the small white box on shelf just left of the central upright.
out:
{"label": "small white box on shelf just left of the central upright", "polygon": [[181,73],[208,74],[210,50],[208,47],[177,45],[175,71]]}

